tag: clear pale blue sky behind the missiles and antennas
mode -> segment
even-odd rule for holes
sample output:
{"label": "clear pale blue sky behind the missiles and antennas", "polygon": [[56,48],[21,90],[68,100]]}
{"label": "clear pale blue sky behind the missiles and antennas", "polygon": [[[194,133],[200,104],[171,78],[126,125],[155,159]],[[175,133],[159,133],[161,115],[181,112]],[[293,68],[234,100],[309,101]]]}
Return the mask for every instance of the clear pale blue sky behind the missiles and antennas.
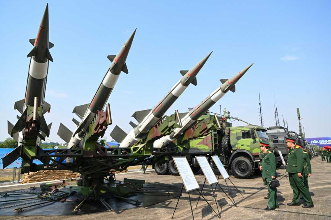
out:
{"label": "clear pale blue sky behind the missiles and antennas", "polygon": [[[0,140],[7,138],[7,120],[16,123],[14,102],[24,98],[30,38],[35,38],[47,2],[1,1]],[[121,73],[112,92],[113,125],[129,131],[133,112],[152,108],[188,70],[213,51],[188,89],[171,106],[187,111],[229,78],[255,62],[219,104],[232,116],[259,124],[258,98],[265,126],[279,118],[298,131],[296,108],[306,137],[330,133],[330,1],[49,1],[50,41],[45,100],[53,122],[50,139],[62,141],[60,122],[74,129],[72,109],[89,103],[110,62],[137,28],[127,58],[129,74]],[[275,99],[274,99],[275,94]],[[283,123],[281,123],[283,124]],[[242,123],[234,123],[242,125]]]}

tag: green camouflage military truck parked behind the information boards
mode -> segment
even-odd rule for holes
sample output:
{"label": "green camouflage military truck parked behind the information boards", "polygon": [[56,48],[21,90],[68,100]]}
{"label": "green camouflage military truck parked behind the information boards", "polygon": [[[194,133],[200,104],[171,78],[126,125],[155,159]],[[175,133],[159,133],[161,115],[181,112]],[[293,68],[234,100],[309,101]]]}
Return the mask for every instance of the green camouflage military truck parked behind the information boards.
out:
{"label": "green camouflage military truck parked behind the information boards", "polygon": [[[255,171],[260,171],[260,140],[269,142],[273,149],[266,128],[251,125],[233,127],[224,116],[206,112],[169,145],[177,148],[180,156],[187,158],[194,173],[200,170],[195,156],[206,156],[212,164],[211,156],[218,155],[234,175],[249,178]],[[178,175],[176,165],[169,156],[159,160],[154,168],[161,175],[169,172]]]}

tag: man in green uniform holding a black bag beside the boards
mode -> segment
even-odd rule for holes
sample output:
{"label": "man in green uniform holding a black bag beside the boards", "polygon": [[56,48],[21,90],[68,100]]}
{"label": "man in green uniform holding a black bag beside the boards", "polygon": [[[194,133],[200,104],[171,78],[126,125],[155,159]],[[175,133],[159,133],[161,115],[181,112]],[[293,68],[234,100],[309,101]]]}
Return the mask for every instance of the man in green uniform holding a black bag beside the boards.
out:
{"label": "man in green uniform holding a black bag beside the boards", "polygon": [[[260,149],[264,152],[264,157],[261,162],[262,178],[265,178],[268,186],[268,205],[264,210],[273,210],[278,208],[277,188],[270,187],[270,180],[276,178],[276,159],[275,155],[269,150],[268,142],[260,140]],[[260,167],[261,169],[261,167]]]}

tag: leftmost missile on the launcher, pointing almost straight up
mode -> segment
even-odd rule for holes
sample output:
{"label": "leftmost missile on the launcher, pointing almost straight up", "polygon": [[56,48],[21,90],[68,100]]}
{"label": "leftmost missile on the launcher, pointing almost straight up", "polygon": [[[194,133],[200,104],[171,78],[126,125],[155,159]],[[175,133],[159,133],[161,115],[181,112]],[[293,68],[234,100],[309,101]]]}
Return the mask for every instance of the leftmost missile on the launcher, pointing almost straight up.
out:
{"label": "leftmost missile on the launcher, pointing almost straight up", "polygon": [[[50,125],[47,126],[44,114],[50,111],[50,104],[45,102],[46,81],[48,74],[49,60],[53,62],[53,58],[49,49],[54,46],[49,42],[49,18],[48,4],[41,18],[35,39],[30,39],[33,49],[28,53],[30,58],[28,69],[25,98],[15,102],[14,109],[17,109],[21,116],[18,117],[18,122],[13,126],[8,122],[8,133],[19,142],[21,146],[23,140],[27,143],[35,143],[39,145],[40,139],[45,139],[49,136]],[[28,108],[30,109],[28,111]],[[33,111],[33,116],[31,112]],[[33,121],[33,128],[27,121]],[[36,126],[37,125],[37,126]],[[39,126],[40,125],[40,126]],[[27,128],[26,126],[29,126]],[[39,133],[42,131],[41,134]],[[21,150],[17,147],[11,153],[3,158],[3,166],[11,164],[21,155]]]}

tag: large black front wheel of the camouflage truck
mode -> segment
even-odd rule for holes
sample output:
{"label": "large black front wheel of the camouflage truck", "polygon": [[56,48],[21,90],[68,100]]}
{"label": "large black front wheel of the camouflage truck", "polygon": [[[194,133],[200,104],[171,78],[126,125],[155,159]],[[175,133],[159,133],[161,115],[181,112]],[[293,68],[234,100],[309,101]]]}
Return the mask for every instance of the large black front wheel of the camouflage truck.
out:
{"label": "large black front wheel of the camouflage truck", "polygon": [[238,178],[247,179],[254,174],[254,166],[251,159],[237,157],[231,163],[231,169]]}

